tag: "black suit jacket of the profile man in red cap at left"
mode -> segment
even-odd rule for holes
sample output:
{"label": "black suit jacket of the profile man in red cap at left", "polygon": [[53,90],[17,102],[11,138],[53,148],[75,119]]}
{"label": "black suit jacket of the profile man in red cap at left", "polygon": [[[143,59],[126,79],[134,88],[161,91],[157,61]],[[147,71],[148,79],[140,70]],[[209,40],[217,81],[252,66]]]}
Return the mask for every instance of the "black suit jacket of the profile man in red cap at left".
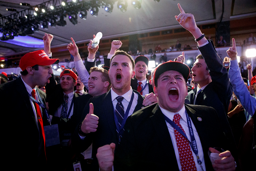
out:
{"label": "black suit jacket of the profile man in red cap at left", "polygon": [[[45,105],[46,94],[38,89]],[[33,108],[27,89],[21,77],[0,85],[1,119],[9,124],[1,124],[2,162],[12,170],[40,170],[46,162],[44,147],[38,154],[39,131],[35,122]],[[43,124],[48,125],[46,114],[42,111]],[[38,164],[38,161],[41,164]],[[40,166],[41,165],[41,166]]]}

